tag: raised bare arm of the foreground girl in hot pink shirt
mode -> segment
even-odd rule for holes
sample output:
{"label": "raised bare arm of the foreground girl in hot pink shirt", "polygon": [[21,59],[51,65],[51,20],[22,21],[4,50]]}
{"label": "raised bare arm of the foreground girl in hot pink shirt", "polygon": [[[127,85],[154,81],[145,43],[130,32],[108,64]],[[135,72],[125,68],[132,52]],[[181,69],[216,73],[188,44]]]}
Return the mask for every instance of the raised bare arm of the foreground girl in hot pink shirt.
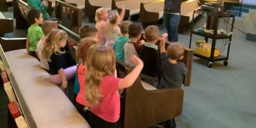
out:
{"label": "raised bare arm of the foreground girl in hot pink shirt", "polygon": [[140,75],[140,72],[143,68],[143,61],[141,61],[140,58],[138,58],[134,54],[132,55],[132,61],[136,65],[136,67],[134,68],[134,70],[132,70],[130,74],[125,76],[124,79],[121,79],[119,81],[118,83],[119,89],[128,88],[129,86],[131,86],[134,83],[134,81],[137,79],[137,77]]}

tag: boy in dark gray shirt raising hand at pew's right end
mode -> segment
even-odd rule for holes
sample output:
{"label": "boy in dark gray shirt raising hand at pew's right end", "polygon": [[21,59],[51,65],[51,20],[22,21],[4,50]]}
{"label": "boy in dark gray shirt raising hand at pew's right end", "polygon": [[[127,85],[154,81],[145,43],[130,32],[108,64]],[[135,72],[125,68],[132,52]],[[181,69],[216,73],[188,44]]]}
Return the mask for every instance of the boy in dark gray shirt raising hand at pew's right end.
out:
{"label": "boy in dark gray shirt raising hand at pew's right end", "polygon": [[[185,67],[184,63],[177,62],[177,60],[182,60],[183,58],[184,45],[180,42],[170,44],[167,48],[166,55],[164,44],[167,36],[167,34],[164,34],[160,43],[162,68],[164,70],[159,88],[181,88],[183,78],[188,74],[188,68]],[[164,127],[176,127],[175,119],[167,120]]]}

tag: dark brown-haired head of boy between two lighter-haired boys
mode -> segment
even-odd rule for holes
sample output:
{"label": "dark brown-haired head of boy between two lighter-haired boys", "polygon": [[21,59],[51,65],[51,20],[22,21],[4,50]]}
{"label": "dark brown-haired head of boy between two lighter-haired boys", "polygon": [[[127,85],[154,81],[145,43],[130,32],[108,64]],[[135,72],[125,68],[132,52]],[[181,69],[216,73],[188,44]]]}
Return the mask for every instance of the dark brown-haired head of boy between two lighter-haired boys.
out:
{"label": "dark brown-haired head of boy between two lighter-haired boys", "polygon": [[143,27],[139,23],[132,23],[128,30],[130,38],[140,38],[142,30]]}

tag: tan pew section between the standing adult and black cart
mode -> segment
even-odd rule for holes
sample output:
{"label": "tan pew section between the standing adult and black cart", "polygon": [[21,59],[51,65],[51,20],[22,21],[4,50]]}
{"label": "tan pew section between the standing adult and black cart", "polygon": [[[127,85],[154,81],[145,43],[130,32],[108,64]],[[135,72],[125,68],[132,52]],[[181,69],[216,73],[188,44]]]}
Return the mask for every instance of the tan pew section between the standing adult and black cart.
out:
{"label": "tan pew section between the standing adult and black cart", "polygon": [[198,8],[198,6],[197,0],[183,2],[180,6],[180,15],[186,15],[187,13],[195,10],[195,8]]}

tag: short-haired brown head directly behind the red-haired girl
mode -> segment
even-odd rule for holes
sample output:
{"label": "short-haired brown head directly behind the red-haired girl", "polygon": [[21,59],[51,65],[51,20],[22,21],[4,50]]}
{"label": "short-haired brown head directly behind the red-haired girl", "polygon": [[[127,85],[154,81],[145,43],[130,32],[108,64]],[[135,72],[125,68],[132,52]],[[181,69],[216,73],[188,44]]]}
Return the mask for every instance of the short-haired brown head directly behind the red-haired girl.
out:
{"label": "short-haired brown head directly behind the red-haired girl", "polygon": [[96,42],[98,42],[98,29],[95,28],[95,27],[92,27],[92,26],[83,26],[81,29],[80,29],[80,33],[79,33],[79,36],[81,38],[81,40],[83,39],[88,39],[88,40],[95,40]]}

